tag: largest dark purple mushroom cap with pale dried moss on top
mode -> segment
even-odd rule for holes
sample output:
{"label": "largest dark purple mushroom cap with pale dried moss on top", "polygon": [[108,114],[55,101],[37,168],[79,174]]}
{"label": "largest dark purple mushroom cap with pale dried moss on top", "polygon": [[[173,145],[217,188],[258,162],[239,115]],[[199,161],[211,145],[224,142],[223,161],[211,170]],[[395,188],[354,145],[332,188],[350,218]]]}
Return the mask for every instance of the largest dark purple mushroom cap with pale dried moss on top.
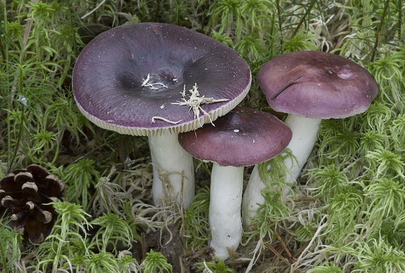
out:
{"label": "largest dark purple mushroom cap with pale dried moss on top", "polygon": [[[162,83],[152,87],[142,86]],[[193,30],[136,23],[107,30],[78,56],[72,75],[79,110],[101,128],[121,134],[186,132],[218,118],[249,92],[247,62],[228,46]],[[199,122],[180,92],[198,86],[199,97],[228,99],[200,104]],[[177,124],[152,118],[159,116]]]}

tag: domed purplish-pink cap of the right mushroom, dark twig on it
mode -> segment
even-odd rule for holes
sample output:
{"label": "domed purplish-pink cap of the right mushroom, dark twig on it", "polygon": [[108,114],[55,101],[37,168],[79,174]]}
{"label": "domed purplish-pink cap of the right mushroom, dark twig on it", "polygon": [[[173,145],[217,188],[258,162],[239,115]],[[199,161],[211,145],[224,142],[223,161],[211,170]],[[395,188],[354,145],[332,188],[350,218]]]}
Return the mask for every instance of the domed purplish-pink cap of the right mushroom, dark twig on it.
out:
{"label": "domed purplish-pink cap of the right mushroom, dark twig on it", "polygon": [[378,93],[373,75],[365,68],[320,51],[279,55],[260,68],[258,82],[271,108],[313,119],[346,118],[364,112]]}

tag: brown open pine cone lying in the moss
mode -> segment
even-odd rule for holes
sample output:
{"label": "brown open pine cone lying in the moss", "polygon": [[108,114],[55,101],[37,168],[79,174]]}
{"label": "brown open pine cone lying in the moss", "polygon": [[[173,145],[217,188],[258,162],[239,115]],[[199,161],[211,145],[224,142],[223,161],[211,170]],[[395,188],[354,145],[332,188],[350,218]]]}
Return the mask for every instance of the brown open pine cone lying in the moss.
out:
{"label": "brown open pine cone lying in the moss", "polygon": [[44,167],[32,164],[17,169],[0,180],[0,213],[6,213],[9,226],[39,244],[51,233],[57,213],[54,201],[66,201],[66,186]]}

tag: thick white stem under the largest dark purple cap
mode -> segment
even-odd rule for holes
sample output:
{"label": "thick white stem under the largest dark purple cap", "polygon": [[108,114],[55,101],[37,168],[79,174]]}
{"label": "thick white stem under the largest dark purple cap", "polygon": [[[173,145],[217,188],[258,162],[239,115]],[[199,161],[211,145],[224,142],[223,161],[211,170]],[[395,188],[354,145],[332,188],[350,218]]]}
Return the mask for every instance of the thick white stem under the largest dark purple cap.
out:
{"label": "thick white stem under the largest dark purple cap", "polygon": [[[169,179],[174,196],[177,195],[177,201],[180,204],[181,172],[184,170],[183,207],[188,208],[194,197],[194,166],[191,155],[180,146],[177,133],[154,134],[148,139],[153,163],[153,203],[156,204],[158,198],[163,196],[164,182],[161,179]],[[171,188],[170,185],[166,187]]]}

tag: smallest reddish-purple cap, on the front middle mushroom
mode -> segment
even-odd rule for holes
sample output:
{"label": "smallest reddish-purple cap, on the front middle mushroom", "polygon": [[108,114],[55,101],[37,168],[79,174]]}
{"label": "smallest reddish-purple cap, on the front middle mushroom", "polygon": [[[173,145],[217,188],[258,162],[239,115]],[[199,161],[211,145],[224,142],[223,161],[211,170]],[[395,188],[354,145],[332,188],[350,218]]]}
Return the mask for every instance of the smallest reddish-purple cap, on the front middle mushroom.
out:
{"label": "smallest reddish-purple cap, on the front middle mushroom", "polygon": [[179,134],[194,158],[220,166],[244,167],[274,158],[290,143],[292,132],[276,116],[237,106],[195,131]]}

